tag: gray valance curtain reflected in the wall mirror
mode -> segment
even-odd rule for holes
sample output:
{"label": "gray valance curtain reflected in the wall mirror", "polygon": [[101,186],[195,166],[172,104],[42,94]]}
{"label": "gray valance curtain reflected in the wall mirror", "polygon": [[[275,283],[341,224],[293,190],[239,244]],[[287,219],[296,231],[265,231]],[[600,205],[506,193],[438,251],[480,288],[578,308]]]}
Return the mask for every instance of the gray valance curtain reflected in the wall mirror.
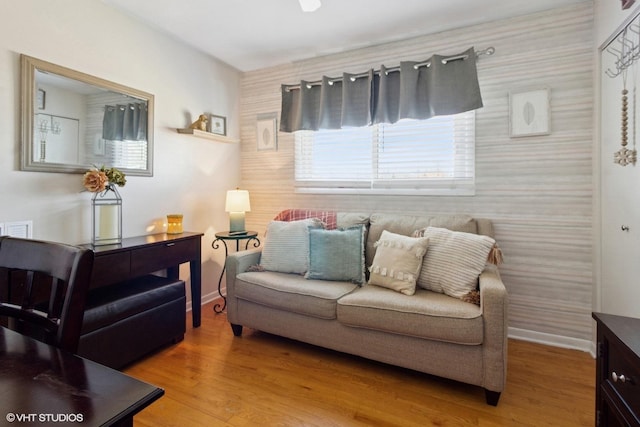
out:
{"label": "gray valance curtain reflected in the wall mirror", "polygon": [[102,139],[110,141],[146,141],[146,103],[106,105],[102,119]]}

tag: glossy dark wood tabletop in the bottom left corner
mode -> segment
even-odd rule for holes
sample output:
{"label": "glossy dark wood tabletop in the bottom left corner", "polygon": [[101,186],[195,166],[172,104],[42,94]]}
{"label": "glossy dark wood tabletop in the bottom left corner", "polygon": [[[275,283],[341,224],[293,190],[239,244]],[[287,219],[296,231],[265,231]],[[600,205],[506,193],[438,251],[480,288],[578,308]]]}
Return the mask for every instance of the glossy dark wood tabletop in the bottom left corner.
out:
{"label": "glossy dark wood tabletop in the bottom left corner", "polygon": [[0,425],[132,426],[164,390],[0,327]]}

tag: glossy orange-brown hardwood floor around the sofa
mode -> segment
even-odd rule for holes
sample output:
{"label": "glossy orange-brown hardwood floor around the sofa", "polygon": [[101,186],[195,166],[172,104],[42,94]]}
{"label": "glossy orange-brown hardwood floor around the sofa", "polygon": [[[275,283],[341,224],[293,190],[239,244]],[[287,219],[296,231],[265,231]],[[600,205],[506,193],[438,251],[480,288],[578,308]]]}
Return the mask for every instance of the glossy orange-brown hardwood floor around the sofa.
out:
{"label": "glossy orange-brown hardwood floor around the sofa", "polygon": [[135,426],[594,425],[588,353],[510,340],[507,387],[492,407],[478,387],[247,328],[236,338],[211,305],[183,342],[125,372],[166,391]]}

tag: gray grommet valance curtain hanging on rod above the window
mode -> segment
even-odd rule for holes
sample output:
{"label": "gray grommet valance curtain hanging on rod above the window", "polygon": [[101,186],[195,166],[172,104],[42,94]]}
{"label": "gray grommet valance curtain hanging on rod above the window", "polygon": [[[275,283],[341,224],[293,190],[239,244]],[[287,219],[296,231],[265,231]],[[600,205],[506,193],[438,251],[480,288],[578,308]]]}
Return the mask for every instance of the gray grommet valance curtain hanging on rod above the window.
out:
{"label": "gray grommet valance curtain hanging on rod above the window", "polygon": [[476,54],[433,55],[424,62],[401,62],[362,74],[324,76],[282,86],[280,131],[340,129],[428,119],[482,107]]}

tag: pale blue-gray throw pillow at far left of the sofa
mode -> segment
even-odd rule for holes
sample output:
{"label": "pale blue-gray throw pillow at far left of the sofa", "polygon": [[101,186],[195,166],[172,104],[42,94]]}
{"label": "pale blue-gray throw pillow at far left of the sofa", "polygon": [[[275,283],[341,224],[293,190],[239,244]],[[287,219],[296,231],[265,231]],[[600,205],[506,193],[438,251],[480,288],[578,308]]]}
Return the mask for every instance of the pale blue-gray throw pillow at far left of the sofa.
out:
{"label": "pale blue-gray throw pillow at far left of the sofa", "polygon": [[304,274],[309,268],[309,227],[322,228],[317,218],[271,221],[260,258],[265,270]]}

